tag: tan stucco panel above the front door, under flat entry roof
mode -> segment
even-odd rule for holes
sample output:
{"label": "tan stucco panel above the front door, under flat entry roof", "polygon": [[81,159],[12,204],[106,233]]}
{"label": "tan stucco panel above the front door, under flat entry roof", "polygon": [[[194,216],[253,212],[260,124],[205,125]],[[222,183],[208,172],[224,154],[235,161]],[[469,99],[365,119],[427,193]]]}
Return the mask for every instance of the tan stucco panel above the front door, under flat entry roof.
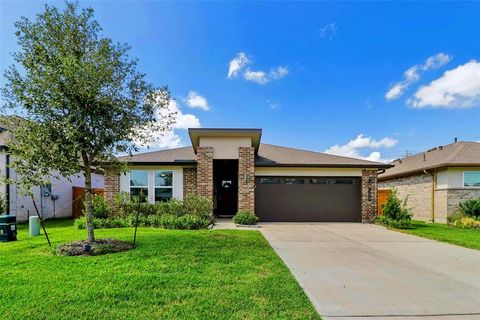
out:
{"label": "tan stucco panel above the front door, under flat entry roof", "polygon": [[200,137],[200,147],[213,147],[213,159],[238,159],[239,147],[251,147],[249,137]]}

